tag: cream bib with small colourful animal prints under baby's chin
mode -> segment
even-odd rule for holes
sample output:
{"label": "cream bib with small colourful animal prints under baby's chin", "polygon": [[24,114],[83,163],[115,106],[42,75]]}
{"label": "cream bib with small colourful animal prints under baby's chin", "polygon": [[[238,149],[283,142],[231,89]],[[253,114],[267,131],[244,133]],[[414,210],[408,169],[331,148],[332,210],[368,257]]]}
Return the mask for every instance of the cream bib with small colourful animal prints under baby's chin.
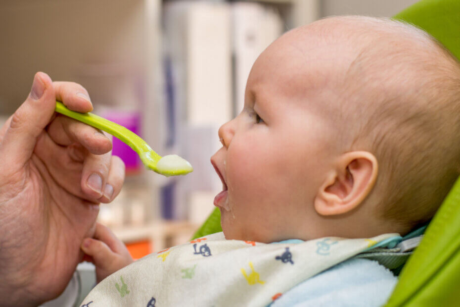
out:
{"label": "cream bib with small colourful animal prints under baby's chin", "polygon": [[300,282],[395,236],[265,244],[226,240],[220,232],[118,270],[82,306],[267,306]]}

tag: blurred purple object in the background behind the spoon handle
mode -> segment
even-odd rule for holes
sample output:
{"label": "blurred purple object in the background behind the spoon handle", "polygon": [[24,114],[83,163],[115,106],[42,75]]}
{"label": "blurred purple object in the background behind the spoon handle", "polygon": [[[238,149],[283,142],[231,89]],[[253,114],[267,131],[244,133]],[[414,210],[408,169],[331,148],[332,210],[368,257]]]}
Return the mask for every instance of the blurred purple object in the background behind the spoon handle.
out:
{"label": "blurred purple object in the background behind the spoon handle", "polygon": [[[140,114],[134,110],[104,109],[102,117],[111,120],[139,135]],[[139,135],[140,136],[140,135]],[[142,162],[134,150],[117,138],[113,138],[112,154],[119,156],[126,165],[127,173],[140,171]]]}

